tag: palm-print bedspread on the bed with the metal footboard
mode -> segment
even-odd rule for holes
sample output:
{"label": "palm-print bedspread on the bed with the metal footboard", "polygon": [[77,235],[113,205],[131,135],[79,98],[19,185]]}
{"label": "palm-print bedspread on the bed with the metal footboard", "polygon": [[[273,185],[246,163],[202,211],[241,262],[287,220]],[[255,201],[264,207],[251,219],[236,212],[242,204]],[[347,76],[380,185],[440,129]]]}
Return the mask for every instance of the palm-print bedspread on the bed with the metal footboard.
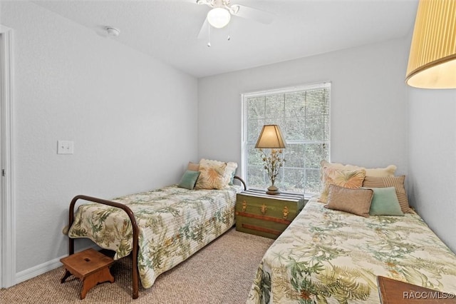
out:
{"label": "palm-print bedspread on the bed with the metal footboard", "polygon": [[[135,214],[139,226],[138,270],[144,288],[161,273],[186,260],[234,224],[236,193],[240,186],[222,190],[187,190],[169,186],[115,198]],[[68,236],[90,238],[115,251],[115,259],[132,251],[133,230],[125,211],[98,203],[79,206]]]}

